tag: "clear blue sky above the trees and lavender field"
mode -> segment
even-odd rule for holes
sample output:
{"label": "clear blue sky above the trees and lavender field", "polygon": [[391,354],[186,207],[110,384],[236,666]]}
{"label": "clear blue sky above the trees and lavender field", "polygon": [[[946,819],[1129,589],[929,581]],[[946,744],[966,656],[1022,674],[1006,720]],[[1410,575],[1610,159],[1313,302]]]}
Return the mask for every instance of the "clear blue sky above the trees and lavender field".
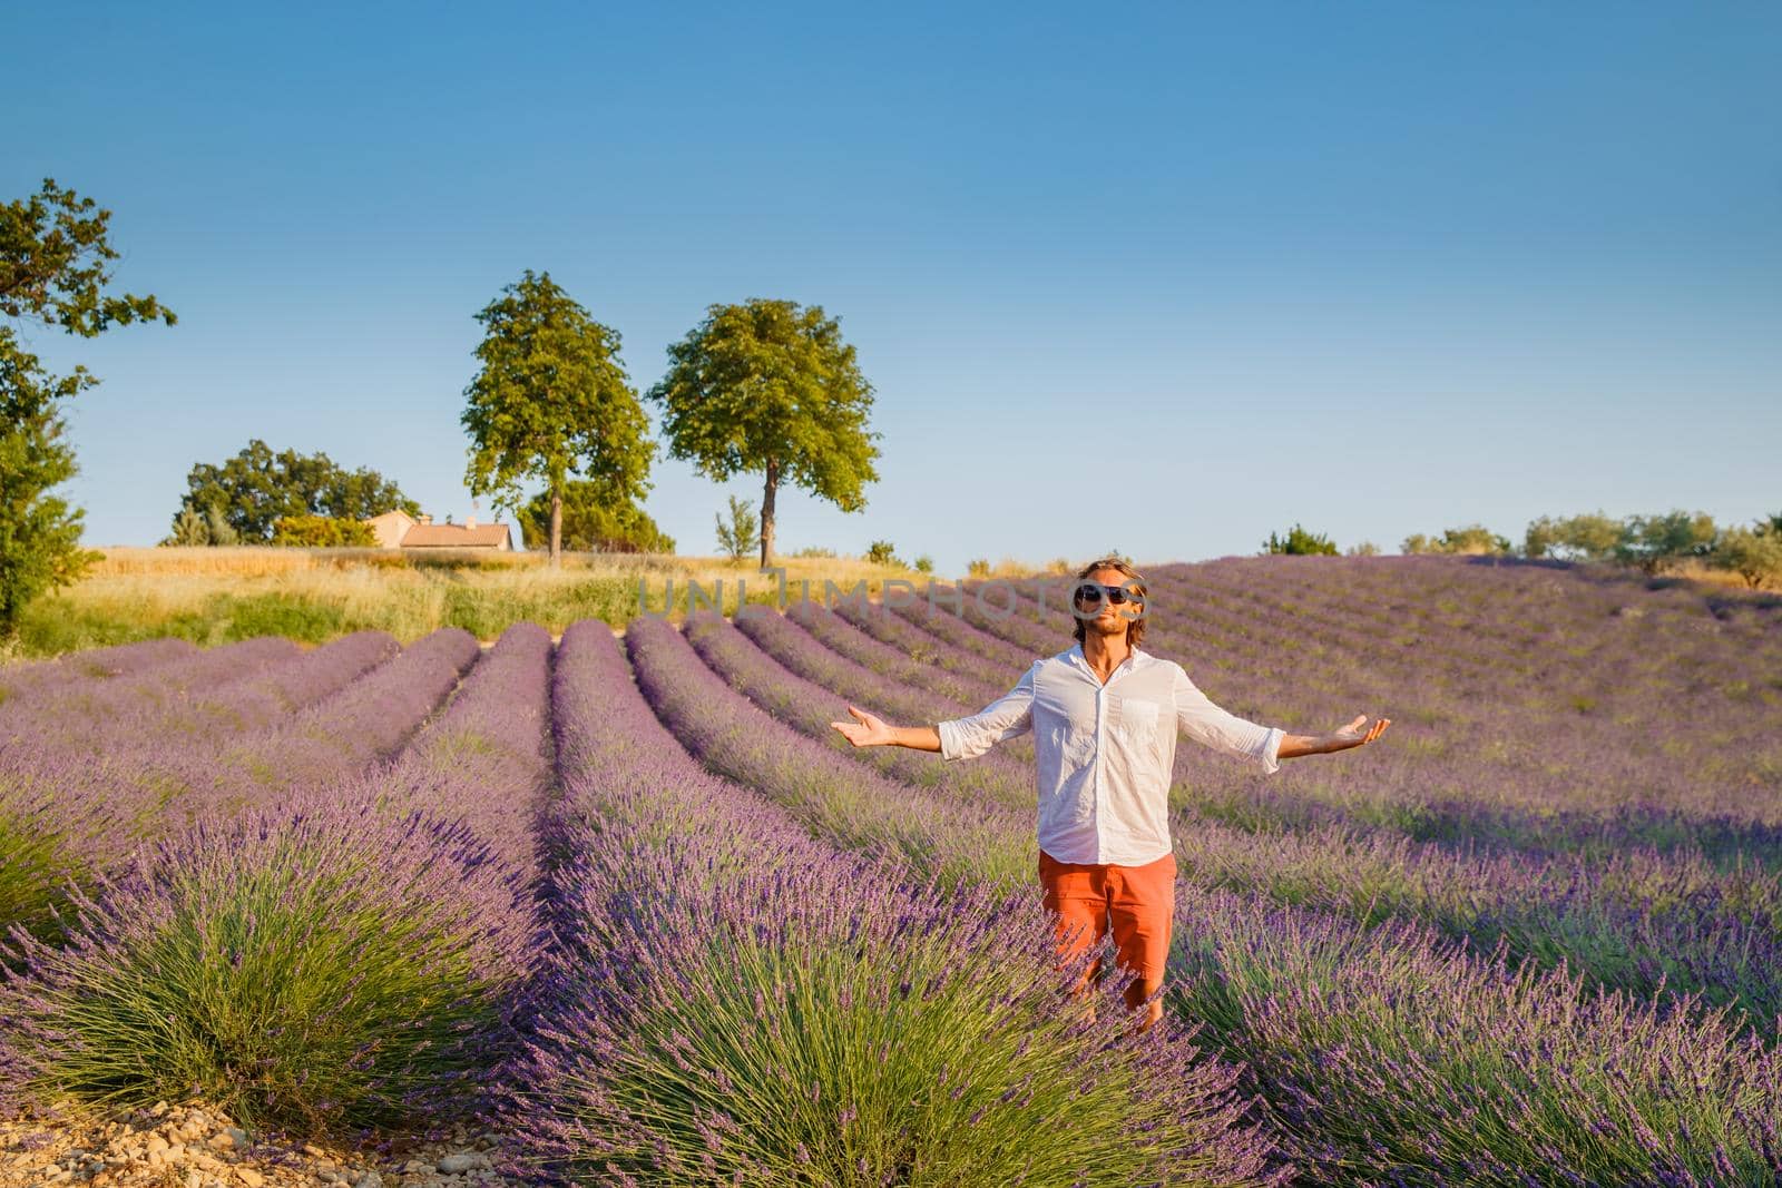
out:
{"label": "clear blue sky above the trees and lavender field", "polygon": [[[462,518],[472,315],[527,267],[640,390],[709,303],[841,317],[882,479],[782,493],[784,549],[1782,511],[1782,7],[271,7],[7,11],[0,196],[110,207],[180,315],[34,335],[103,378],[89,543],[255,436]],[[652,477],[683,552],[759,499]]]}

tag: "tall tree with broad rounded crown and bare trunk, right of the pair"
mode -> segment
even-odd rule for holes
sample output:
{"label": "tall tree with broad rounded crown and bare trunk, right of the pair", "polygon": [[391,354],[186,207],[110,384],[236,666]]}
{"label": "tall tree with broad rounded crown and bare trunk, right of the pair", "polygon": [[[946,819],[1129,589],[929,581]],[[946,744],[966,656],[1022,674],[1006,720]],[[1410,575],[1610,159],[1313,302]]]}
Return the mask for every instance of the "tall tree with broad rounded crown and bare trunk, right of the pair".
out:
{"label": "tall tree with broad rounded crown and bare trunk, right of the pair", "polygon": [[879,479],[880,435],[866,427],[873,388],[822,306],[761,297],[709,306],[706,321],[668,347],[668,374],[649,395],[665,410],[672,456],[718,483],[764,476],[763,568],[773,561],[781,483],[859,511],[864,486]]}

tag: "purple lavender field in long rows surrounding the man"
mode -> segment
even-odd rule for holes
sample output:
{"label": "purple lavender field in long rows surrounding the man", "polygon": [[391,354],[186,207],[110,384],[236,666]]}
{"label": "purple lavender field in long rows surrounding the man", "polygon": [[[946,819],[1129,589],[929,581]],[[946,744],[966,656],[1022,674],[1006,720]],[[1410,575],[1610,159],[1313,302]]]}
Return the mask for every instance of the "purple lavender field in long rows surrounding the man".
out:
{"label": "purple lavender field in long rows surrounding the man", "polygon": [[[1055,581],[0,670],[0,1110],[456,1120],[590,1184],[1782,1183],[1782,606],[1463,557],[1148,572],[1165,1022],[1071,999],[1032,746],[850,748],[1071,643]],[[957,597],[952,597],[957,595]]]}

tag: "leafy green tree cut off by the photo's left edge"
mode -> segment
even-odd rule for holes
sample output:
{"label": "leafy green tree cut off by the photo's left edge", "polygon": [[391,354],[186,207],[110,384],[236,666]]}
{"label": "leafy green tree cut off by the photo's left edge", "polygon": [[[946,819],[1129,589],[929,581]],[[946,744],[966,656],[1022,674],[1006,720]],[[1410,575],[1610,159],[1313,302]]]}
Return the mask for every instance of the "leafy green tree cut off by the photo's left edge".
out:
{"label": "leafy green tree cut off by the photo's left edge", "polygon": [[78,508],[52,492],[77,472],[62,406],[98,383],[86,367],[45,370],[23,326],[94,338],[112,326],[178,319],[155,297],[107,296],[118,251],[110,210],[52,178],[0,207],[0,641],[39,593],[98,556],[80,547]]}

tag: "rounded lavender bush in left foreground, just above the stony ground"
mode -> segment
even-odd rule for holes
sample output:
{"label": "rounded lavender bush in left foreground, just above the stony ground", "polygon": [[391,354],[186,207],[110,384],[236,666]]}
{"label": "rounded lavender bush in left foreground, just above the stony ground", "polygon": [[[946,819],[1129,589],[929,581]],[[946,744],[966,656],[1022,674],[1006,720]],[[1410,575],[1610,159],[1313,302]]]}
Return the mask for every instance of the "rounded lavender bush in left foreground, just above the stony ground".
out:
{"label": "rounded lavender bush in left foreground, just above the stony ground", "polygon": [[433,1122],[504,1049],[527,930],[515,875],[463,826],[299,798],[146,851],[78,899],[62,946],[14,930],[0,1069],[36,1099]]}

